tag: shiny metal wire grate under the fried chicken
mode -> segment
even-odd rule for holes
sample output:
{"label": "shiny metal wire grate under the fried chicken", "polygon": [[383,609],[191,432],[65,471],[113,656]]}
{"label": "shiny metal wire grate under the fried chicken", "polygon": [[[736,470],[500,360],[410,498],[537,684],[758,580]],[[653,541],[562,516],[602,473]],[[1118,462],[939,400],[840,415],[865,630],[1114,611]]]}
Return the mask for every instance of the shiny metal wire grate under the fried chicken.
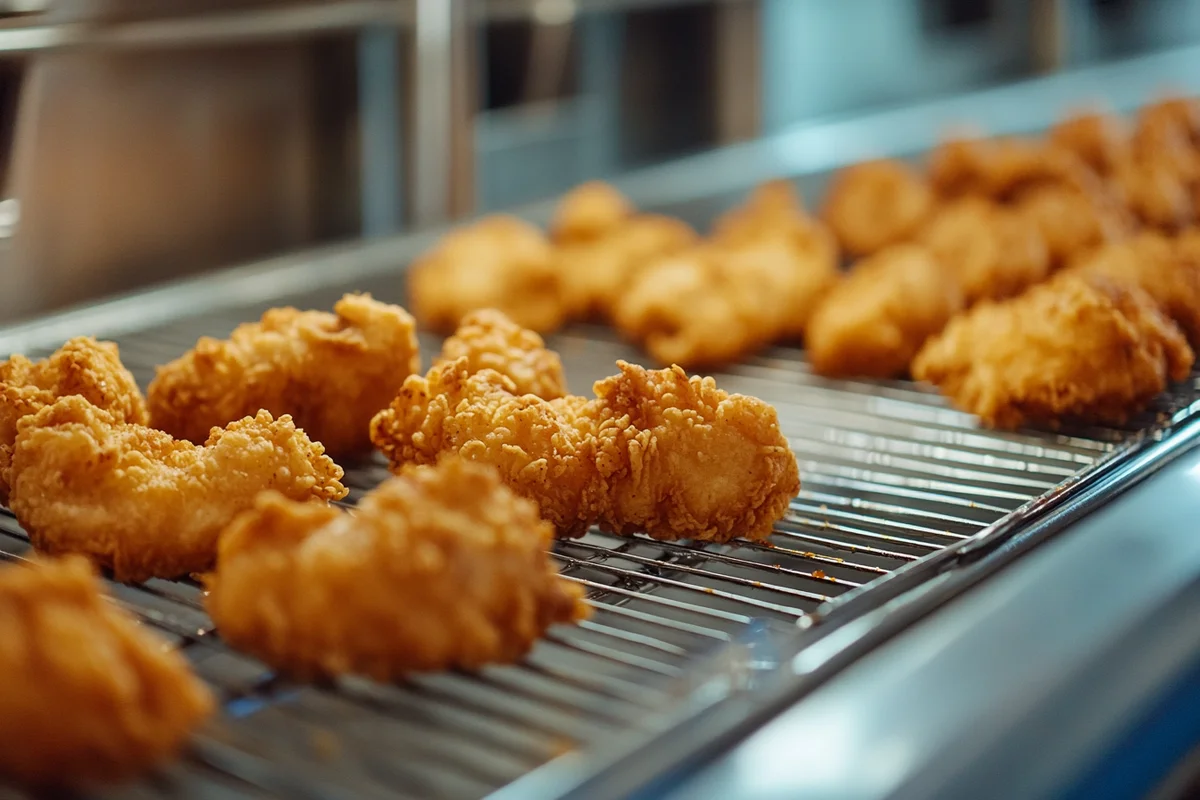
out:
{"label": "shiny metal wire grate under the fried chicken", "polygon": [[[400,300],[388,283],[360,288]],[[336,294],[288,301],[328,306]],[[144,385],[198,336],[224,336],[259,311],[119,338],[121,354]],[[438,344],[422,339],[426,361]],[[575,391],[610,374],[617,359],[640,359],[604,329],[577,326],[550,345]],[[222,644],[196,584],[113,585],[118,602],[182,648],[224,700],[185,759],[118,794],[482,796],[565,752],[652,733],[692,697],[703,664],[763,624],[786,628],[970,537],[1194,393],[1163,398],[1127,431],[994,433],[911,383],[815,377],[793,349],[733,367],[718,383],[779,410],[803,480],[787,518],[764,543],[696,547],[596,531],[559,542],[554,558],[588,588],[595,615],[553,630],[523,663],[391,686],[296,686]],[[385,475],[379,461],[347,465],[349,501]],[[0,510],[0,552],[13,559],[28,548]]]}

